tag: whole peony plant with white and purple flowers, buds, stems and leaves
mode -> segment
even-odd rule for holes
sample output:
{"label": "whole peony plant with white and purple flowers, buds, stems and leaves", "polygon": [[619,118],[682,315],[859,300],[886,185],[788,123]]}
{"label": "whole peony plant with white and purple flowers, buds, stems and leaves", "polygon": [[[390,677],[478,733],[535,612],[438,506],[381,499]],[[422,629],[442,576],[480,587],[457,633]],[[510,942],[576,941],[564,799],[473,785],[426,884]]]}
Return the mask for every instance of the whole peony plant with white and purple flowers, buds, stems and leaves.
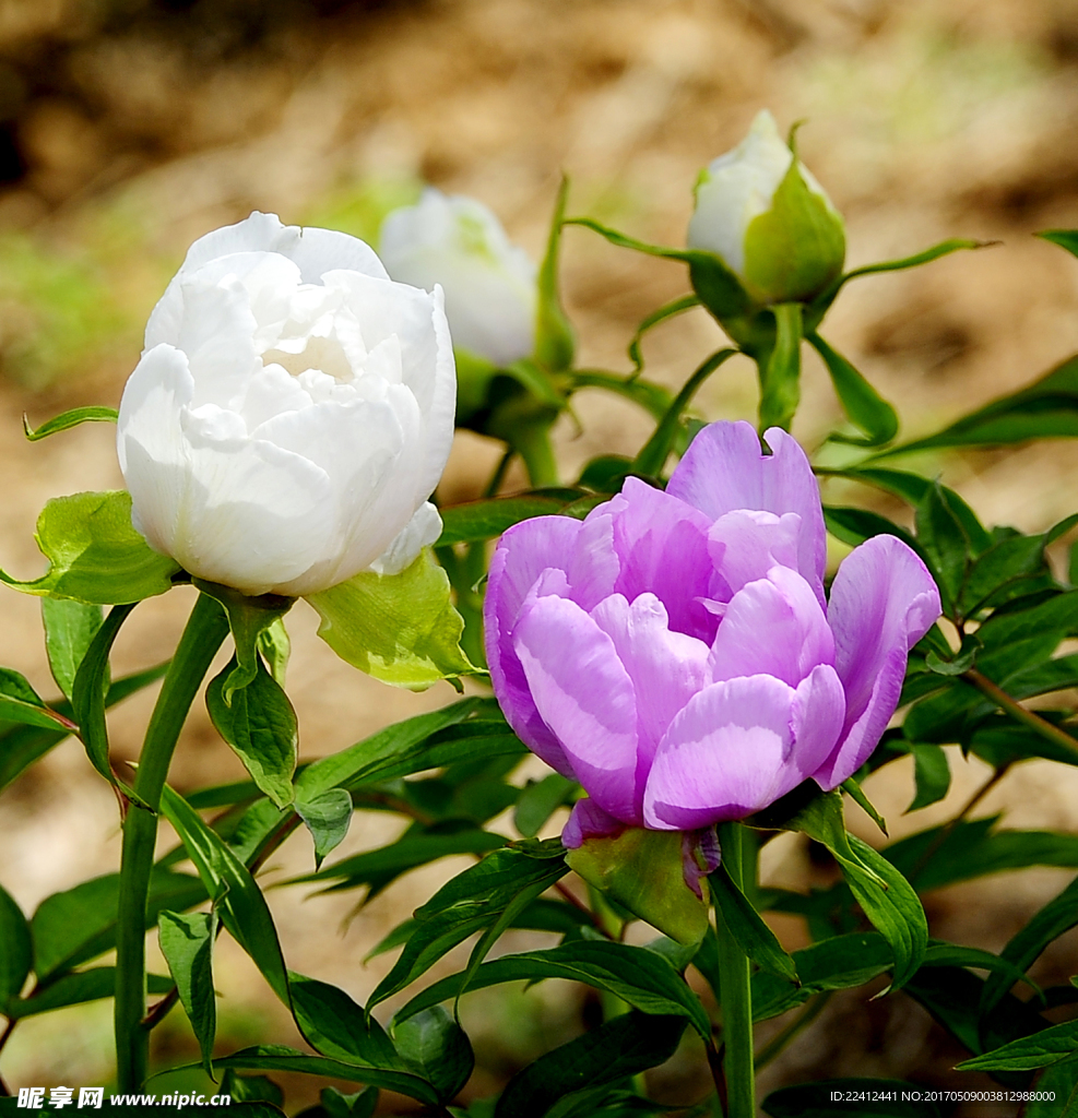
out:
{"label": "whole peony plant with white and purple flowers, buds, stems and leaves", "polygon": [[[42,699],[0,670],[0,790],[76,737],[115,793],[123,849],[119,872],[32,915],[0,888],[0,1061],[25,1018],[111,996],[110,1105],[121,1109],[153,1090],[164,1060],[155,1030],[181,1006],[200,1059],[178,1073],[218,1097],[210,1114],[281,1114],[267,1078],[280,1073],[322,1084],[306,1118],[404,1106],[443,1118],[624,1118],[670,1112],[645,1077],[689,1034],[679,1060],[699,1055],[711,1087],[674,1112],[757,1118],[758,1071],[834,991],[864,1002],[887,993],[885,1007],[901,991],[968,1051],[959,1070],[940,1072],[934,1058],[897,1086],[785,1083],[763,1111],[835,1115],[836,1095],[916,1108],[929,1083],[972,1093],[987,1081],[970,1077],[990,1074],[1030,1118],[1055,1118],[1078,1091],[1074,992],[1041,992],[1032,978],[1043,972],[1029,972],[1074,925],[1074,882],[991,950],[943,940],[919,892],[1001,866],[1078,869],[1074,835],[970,818],[1016,766],[1078,757],[1074,704],[1061,698],[1078,686],[1065,643],[1078,635],[1078,559],[1058,555],[1078,515],[1037,534],[987,529],[902,455],[1078,434],[1075,359],[899,443],[897,411],[823,341],[821,322],[847,281],[975,243],[843,273],[841,218],[767,114],[701,178],[685,249],[566,219],[567,189],[537,269],[479,202],[433,190],[390,216],[384,259],[265,214],[210,233],[153,311],[119,411],[27,425],[38,439],[115,421],[127,487],[50,501],[37,529],[48,569],[28,580],[0,571],[41,598],[58,690]],[[567,225],[688,266],[691,292],[641,322],[628,372],[575,364],[558,288]],[[1078,234],[1044,236],[1078,255]],[[668,391],[642,375],[643,340],[698,305],[730,344]],[[828,366],[844,415],[811,456],[788,433],[802,341]],[[757,364],[762,434],[690,410],[738,352]],[[641,405],[654,427],[635,455],[599,454],[565,484],[549,430],[583,388]],[[454,411],[505,453],[482,499],[445,506],[436,486]],[[522,492],[507,492],[514,455],[529,475]],[[934,458],[933,471],[938,461],[946,468]],[[863,486],[908,515],[835,503]],[[198,593],[171,657],[114,679],[112,646],[131,612],[179,585]],[[285,691],[297,597],[357,667],[413,689],[463,691],[469,676],[467,693],[301,758]],[[223,646],[230,656],[211,674]],[[157,682],[140,756],[125,764],[107,711]],[[173,755],[200,692],[249,779],[181,792]],[[905,759],[905,775],[891,773],[912,781],[916,819],[967,758],[987,766],[975,794],[890,841],[862,781]],[[848,831],[850,804],[879,826],[881,849]],[[365,811],[396,817],[400,834],[341,855]],[[278,939],[263,874],[295,832],[311,871],[275,887],[369,900],[413,868],[471,859],[371,945],[371,956],[399,954],[363,1005],[285,961],[292,945]],[[759,850],[781,833],[826,851],[831,875],[800,890],[762,885]],[[802,920],[800,938],[781,941],[769,912]],[[148,929],[162,973],[148,969]],[[536,938],[510,949],[510,929]],[[221,934],[249,955],[303,1048],[228,1050],[215,994]],[[466,941],[461,969],[417,987]],[[473,1077],[483,1053],[457,1002],[551,977],[598,992],[587,1031],[522,1060],[495,1099],[476,1098],[495,1072]],[[1032,996],[1020,996],[1022,983]],[[781,1024],[757,1043],[756,1024],[769,1021]],[[55,1092],[49,1108],[70,1105],[74,1089]],[[39,1109],[44,1095],[0,1078],[0,1112]]]}

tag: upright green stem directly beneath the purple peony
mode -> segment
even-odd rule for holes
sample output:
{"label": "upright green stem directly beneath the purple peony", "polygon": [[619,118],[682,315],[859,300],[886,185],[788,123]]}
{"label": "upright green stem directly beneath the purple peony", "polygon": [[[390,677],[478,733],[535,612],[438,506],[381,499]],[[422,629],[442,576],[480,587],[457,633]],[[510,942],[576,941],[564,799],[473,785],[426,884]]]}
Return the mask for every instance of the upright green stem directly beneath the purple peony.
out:
{"label": "upright green stem directly beneath the purple peony", "polygon": [[[722,861],[734,883],[745,891],[744,828],[726,823],[719,828]],[[751,888],[749,889],[751,892]],[[716,908],[719,939],[719,984],[722,997],[722,1070],[726,1079],[726,1118],[756,1118],[756,1081],[753,1058],[753,998],[748,956],[730,934]]]}

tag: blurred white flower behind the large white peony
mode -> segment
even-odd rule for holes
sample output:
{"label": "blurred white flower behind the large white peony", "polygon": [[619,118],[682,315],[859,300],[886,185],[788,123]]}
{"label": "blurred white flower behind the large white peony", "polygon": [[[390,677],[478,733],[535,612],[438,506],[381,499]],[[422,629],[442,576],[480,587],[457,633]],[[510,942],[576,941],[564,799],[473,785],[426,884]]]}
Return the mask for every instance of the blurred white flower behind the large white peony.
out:
{"label": "blurred white flower behind the large white peony", "polygon": [[499,368],[536,344],[536,266],[473,198],[428,188],[381,228],[382,263],[394,280],[445,291],[453,343]]}

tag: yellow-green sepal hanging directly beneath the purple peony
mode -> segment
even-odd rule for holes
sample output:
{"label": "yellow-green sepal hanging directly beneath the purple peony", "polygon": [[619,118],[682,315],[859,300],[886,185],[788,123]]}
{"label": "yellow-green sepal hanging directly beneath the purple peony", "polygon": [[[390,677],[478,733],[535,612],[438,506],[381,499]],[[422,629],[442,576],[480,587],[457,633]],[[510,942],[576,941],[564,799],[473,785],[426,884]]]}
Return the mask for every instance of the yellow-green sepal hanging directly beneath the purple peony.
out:
{"label": "yellow-green sepal hanging directly beneath the purple peony", "polygon": [[679,944],[699,944],[708,930],[703,899],[685,884],[680,831],[626,827],[609,839],[586,839],[566,855],[569,868]]}

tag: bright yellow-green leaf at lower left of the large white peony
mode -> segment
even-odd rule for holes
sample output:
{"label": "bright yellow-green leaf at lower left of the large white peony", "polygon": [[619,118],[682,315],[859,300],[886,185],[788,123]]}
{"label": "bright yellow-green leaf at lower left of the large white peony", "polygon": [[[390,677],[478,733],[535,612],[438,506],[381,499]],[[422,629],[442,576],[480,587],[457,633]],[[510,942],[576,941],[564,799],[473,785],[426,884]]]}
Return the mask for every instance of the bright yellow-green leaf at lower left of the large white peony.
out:
{"label": "bright yellow-green leaf at lower left of the large white peony", "polygon": [[23,594],[121,605],[164,594],[180,569],[134,530],[131,494],[124,490],[49,501],[35,537],[49,560],[48,572],[20,581],[0,571],[0,581]]}

